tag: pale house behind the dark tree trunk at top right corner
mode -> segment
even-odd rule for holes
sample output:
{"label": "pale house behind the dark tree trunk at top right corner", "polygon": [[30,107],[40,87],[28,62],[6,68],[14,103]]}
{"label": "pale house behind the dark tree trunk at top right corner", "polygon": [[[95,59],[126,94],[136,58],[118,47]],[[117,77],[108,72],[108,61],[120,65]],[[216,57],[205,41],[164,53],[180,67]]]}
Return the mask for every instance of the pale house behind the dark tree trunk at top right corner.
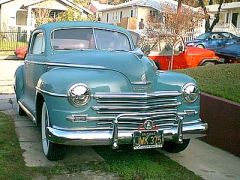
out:
{"label": "pale house behind the dark tree trunk at top right corner", "polygon": [[[218,7],[218,4],[206,6],[208,12],[213,15],[217,13]],[[240,2],[222,4],[220,20],[213,30],[228,31],[240,35]]]}

